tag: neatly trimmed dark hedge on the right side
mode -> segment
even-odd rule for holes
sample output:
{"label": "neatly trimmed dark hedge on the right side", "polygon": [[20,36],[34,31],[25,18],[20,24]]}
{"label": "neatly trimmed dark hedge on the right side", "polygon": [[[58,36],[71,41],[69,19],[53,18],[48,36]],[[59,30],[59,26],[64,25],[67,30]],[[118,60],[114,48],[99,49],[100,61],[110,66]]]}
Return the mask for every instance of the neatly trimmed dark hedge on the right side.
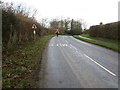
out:
{"label": "neatly trimmed dark hedge on the right side", "polygon": [[89,35],[93,37],[120,40],[120,36],[118,35],[118,26],[120,26],[120,22],[91,26],[89,29]]}

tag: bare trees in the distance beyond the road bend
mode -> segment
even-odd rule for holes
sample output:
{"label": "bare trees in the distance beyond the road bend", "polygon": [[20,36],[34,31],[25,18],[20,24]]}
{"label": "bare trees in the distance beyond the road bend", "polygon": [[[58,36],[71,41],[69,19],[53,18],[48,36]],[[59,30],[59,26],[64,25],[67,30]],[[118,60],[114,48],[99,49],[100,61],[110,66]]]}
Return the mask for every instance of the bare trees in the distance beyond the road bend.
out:
{"label": "bare trees in the distance beyond the road bend", "polygon": [[79,20],[70,19],[53,19],[50,22],[50,27],[52,29],[60,29],[63,34],[81,34],[82,33],[82,23]]}

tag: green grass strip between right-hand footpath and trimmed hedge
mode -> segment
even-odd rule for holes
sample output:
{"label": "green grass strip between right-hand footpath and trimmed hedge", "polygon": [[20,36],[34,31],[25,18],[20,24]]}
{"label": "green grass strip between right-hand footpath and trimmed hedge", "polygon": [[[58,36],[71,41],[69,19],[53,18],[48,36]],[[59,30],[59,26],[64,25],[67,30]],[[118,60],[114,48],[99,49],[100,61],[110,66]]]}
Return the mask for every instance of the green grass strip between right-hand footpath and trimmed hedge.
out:
{"label": "green grass strip between right-hand footpath and trimmed hedge", "polygon": [[95,39],[95,40],[101,40],[101,41],[105,41],[105,42],[116,43],[116,44],[119,43],[120,44],[120,41],[118,41],[118,40],[112,40],[112,39],[100,38],[100,37],[92,37],[88,34],[82,34],[81,36],[91,38],[91,39]]}

